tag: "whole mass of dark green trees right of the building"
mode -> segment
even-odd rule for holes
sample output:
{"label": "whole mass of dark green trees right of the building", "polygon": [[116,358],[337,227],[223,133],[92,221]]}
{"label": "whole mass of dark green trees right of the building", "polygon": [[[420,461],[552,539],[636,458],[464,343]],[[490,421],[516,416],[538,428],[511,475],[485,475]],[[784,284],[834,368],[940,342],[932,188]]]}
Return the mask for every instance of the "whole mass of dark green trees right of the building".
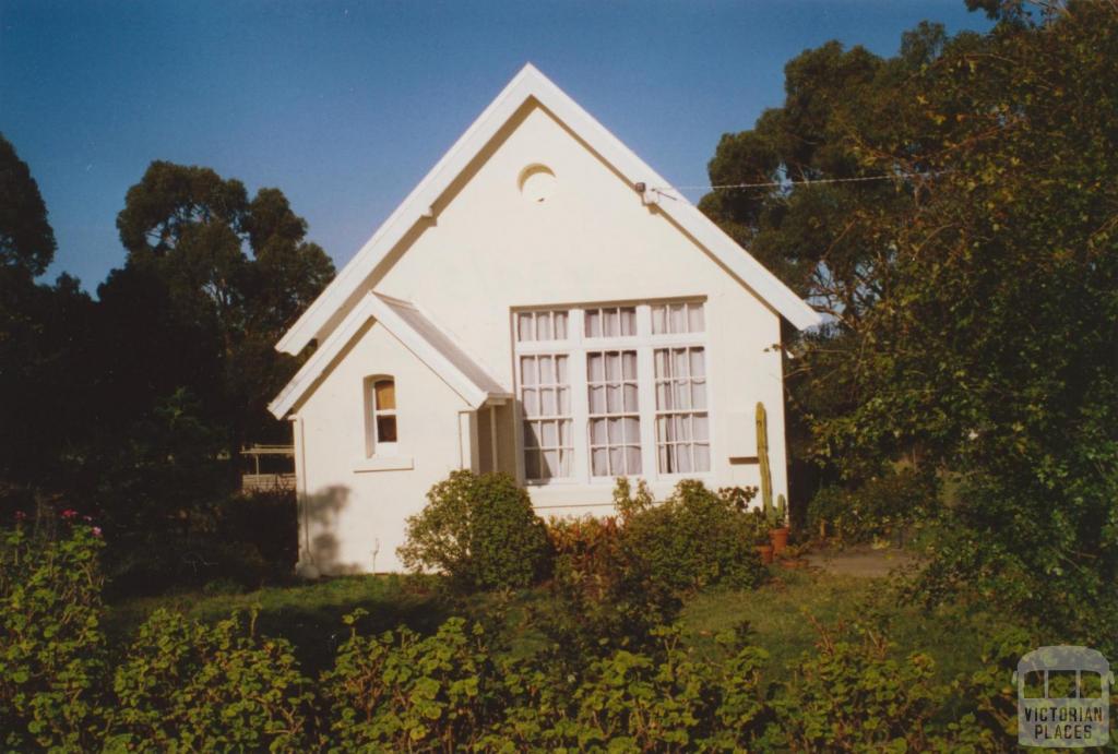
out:
{"label": "whole mass of dark green trees right of the building", "polygon": [[1118,12],[975,4],[988,35],[804,54],[786,106],[711,163],[716,183],[896,180],[703,207],[834,317],[793,375],[799,450],[854,484],[900,458],[961,479],[922,593],[1114,647]]}

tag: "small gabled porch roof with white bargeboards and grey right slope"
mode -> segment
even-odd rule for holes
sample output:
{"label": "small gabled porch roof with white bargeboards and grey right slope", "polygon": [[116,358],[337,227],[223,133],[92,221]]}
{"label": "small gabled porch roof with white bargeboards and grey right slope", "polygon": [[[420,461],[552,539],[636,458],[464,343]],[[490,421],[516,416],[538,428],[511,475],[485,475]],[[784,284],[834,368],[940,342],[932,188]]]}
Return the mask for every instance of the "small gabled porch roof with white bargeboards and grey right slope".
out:
{"label": "small gabled porch roof with white bargeboards and grey right slope", "polygon": [[369,319],[376,319],[383,325],[451,385],[454,392],[462,395],[471,408],[481,408],[486,401],[502,402],[512,398],[512,393],[479,366],[415,305],[370,292],[306,360],[291,382],[268,404],[268,411],[277,419],[282,419],[291,411]]}

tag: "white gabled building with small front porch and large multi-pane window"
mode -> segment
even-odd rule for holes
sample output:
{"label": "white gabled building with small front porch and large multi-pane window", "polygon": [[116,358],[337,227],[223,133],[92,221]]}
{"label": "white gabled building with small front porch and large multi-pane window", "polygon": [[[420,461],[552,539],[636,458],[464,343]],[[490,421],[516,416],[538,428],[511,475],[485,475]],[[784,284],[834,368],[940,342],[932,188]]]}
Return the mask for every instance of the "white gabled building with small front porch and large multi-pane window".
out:
{"label": "white gabled building with small front porch and large multi-pane window", "polygon": [[539,513],[607,514],[618,476],[787,495],[780,321],[818,315],[532,66],[277,344],[304,573],[400,569],[453,469]]}

